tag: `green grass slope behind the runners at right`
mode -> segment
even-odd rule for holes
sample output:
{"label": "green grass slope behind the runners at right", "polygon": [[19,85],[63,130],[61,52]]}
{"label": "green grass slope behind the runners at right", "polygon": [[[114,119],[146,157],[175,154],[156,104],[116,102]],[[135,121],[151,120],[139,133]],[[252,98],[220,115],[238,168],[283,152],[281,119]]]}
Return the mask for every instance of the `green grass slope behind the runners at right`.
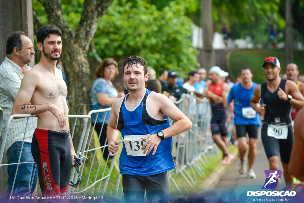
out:
{"label": "green grass slope behind the runners at right", "polygon": [[[243,66],[249,66],[253,73],[253,81],[257,84],[266,82],[266,77],[263,72],[263,61],[268,56],[275,56],[279,59],[282,68],[281,73],[285,73],[285,50],[279,49],[241,49],[233,51],[230,54],[229,64],[230,70],[234,78]],[[294,63],[299,66],[300,74],[304,74],[304,51],[293,52]]]}

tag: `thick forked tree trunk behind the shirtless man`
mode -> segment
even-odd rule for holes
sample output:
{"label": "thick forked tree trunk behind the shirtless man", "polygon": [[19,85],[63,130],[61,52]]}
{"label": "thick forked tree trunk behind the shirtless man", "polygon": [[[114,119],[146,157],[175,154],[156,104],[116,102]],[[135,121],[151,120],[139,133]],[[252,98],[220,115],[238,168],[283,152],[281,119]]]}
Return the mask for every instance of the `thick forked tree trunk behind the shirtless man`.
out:
{"label": "thick forked tree trunk behind the shirtless man", "polygon": [[[74,31],[70,29],[64,18],[60,0],[43,2],[49,22],[54,23],[62,32],[61,60],[67,77],[69,114],[86,115],[91,109],[90,67],[87,53],[99,19],[112,1],[85,0],[79,27]],[[73,126],[74,123],[70,123],[71,131]],[[78,147],[83,128],[83,119],[78,119],[73,137],[75,149]]]}

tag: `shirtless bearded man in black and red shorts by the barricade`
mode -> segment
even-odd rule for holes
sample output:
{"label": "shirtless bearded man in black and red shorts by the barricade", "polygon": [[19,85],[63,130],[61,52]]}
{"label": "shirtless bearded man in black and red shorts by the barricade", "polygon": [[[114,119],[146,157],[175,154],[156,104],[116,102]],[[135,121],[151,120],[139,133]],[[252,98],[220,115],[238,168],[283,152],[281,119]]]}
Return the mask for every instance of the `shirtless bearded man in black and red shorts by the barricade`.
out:
{"label": "shirtless bearded man in black and red shorts by the barricade", "polygon": [[37,41],[40,61],[23,77],[12,114],[38,116],[32,155],[42,194],[52,196],[67,192],[76,153],[69,135],[67,86],[56,68],[62,48],[61,31],[54,24],[42,26]]}

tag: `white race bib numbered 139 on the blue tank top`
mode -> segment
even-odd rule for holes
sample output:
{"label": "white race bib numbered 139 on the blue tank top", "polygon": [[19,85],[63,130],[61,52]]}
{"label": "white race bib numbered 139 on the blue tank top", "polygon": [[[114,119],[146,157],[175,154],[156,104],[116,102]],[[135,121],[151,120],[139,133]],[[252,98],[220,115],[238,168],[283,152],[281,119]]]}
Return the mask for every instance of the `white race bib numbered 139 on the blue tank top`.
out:
{"label": "white race bib numbered 139 on the blue tank top", "polygon": [[141,149],[146,140],[141,139],[141,137],[146,137],[148,135],[125,135],[123,138],[123,143],[126,147],[126,152],[128,156],[146,156],[143,153],[144,149]]}

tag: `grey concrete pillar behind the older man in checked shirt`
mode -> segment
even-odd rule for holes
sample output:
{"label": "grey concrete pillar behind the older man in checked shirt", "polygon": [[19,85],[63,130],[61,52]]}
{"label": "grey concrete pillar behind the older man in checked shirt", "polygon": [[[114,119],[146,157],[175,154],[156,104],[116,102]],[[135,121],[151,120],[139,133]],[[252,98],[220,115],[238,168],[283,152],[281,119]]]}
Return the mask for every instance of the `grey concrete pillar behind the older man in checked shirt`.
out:
{"label": "grey concrete pillar behind the older man in checked shirt", "polygon": [[[0,63],[6,56],[6,41],[12,32],[21,30],[34,44],[33,5],[31,0],[0,0]],[[29,66],[34,66],[34,61]],[[2,138],[0,139],[0,146]],[[2,163],[7,163],[4,152]],[[7,166],[0,168],[0,194],[7,190]]]}

